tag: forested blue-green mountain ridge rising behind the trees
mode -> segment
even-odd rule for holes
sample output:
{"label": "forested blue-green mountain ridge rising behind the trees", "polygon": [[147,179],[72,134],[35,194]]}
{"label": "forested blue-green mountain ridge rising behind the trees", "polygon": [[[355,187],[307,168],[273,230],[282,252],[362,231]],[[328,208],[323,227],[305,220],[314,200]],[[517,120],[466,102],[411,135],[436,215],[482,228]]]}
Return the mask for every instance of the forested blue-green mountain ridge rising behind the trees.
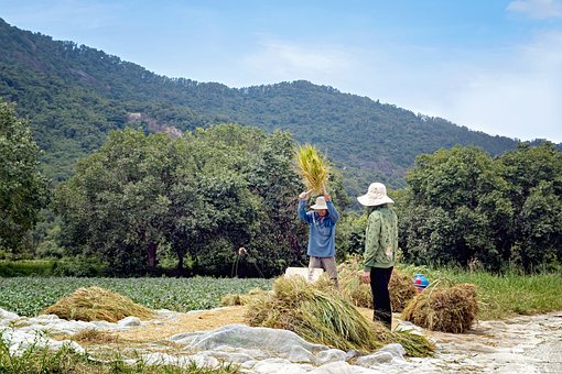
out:
{"label": "forested blue-green mountain ridge rising behind the trees", "polygon": [[350,194],[375,180],[403,186],[404,170],[420,153],[472,144],[497,155],[516,145],[304,80],[235,89],[167,78],[2,19],[0,51],[0,97],[29,119],[45,150],[45,173],[55,179],[72,175],[74,162],[98,148],[108,131],[127,125],[172,135],[218,122],[288,130],[344,170]]}

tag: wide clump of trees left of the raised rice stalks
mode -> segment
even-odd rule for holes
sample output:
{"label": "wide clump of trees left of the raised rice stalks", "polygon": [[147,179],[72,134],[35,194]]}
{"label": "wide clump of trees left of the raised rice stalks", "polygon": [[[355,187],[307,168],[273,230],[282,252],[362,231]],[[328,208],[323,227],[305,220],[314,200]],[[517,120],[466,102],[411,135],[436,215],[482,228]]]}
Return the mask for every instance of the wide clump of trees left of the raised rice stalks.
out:
{"label": "wide clump of trees left of the raised rice stalks", "polygon": [[[279,274],[305,255],[293,152],[285,132],[236,124],[111,132],[57,188],[63,245],[114,274],[154,274],[170,256],[179,274],[186,261],[197,274],[231,275],[235,261],[246,276]],[[338,180],[329,187],[345,204]]]}

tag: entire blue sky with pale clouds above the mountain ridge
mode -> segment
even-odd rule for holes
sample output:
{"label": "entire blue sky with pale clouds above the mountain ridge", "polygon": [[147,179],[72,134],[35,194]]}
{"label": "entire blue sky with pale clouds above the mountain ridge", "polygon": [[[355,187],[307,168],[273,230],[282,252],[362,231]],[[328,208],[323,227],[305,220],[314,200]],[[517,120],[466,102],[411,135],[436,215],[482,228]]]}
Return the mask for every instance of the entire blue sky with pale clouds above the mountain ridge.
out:
{"label": "entire blue sky with pale clouds above the mountain ridge", "polygon": [[0,0],[0,18],[169,77],[306,79],[562,142],[562,0]]}

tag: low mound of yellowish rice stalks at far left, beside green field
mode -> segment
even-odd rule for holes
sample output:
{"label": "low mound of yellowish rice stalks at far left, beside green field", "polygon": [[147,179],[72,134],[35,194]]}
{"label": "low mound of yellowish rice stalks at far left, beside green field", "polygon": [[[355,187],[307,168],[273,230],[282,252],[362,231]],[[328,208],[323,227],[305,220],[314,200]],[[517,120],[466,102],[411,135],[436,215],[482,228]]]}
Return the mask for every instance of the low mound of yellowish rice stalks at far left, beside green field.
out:
{"label": "low mound of yellowish rice stalks at far left, beside green field", "polygon": [[117,322],[125,317],[150,318],[151,309],[133,302],[128,297],[100,287],[78,288],[63,297],[43,314],[56,315],[67,320]]}

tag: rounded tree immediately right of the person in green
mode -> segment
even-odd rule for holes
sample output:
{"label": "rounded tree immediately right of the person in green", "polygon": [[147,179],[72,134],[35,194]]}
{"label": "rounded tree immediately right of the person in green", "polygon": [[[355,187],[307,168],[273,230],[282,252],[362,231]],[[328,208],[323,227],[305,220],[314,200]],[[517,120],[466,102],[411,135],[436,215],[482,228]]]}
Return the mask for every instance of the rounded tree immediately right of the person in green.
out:
{"label": "rounded tree immediately right of the person in green", "polygon": [[508,185],[484,151],[455,146],[421,155],[407,182],[399,216],[408,261],[499,270],[509,258]]}

